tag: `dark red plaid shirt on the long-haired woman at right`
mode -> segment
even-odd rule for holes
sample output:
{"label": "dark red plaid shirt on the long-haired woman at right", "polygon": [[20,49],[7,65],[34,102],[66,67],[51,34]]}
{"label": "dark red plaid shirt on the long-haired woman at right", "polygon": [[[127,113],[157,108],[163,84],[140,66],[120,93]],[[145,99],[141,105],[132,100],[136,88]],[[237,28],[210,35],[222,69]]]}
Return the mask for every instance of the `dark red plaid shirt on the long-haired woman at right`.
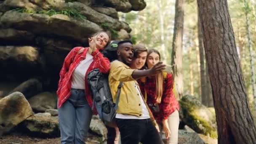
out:
{"label": "dark red plaid shirt on the long-haired woman at right", "polygon": [[[147,91],[147,104],[156,104],[157,94],[155,77],[146,77],[145,82],[142,82],[141,79],[137,81],[140,85],[141,93],[145,95],[145,91]],[[159,104],[160,112],[152,112],[158,122],[168,119],[171,113],[176,109],[179,110],[179,102],[175,99],[173,94],[173,75],[171,73],[168,73],[167,77],[164,79],[163,87],[163,96],[161,103]]]}

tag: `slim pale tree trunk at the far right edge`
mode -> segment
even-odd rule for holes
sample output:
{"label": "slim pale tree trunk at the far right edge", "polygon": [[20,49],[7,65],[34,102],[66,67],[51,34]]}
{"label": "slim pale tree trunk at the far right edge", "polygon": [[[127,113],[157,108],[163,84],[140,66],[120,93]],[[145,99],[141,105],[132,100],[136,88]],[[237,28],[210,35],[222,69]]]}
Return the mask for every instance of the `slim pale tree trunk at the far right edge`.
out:
{"label": "slim pale tree trunk at the far right edge", "polygon": [[249,48],[249,55],[250,55],[250,63],[251,63],[251,83],[253,88],[253,100],[254,100],[254,110],[256,110],[256,85],[255,85],[255,74],[254,74],[254,58],[253,58],[253,50],[252,50],[252,42],[251,42],[251,32],[250,32],[250,21],[248,18],[249,13],[249,4],[244,0],[245,4],[245,19],[246,19],[246,35],[248,38],[248,48]]}

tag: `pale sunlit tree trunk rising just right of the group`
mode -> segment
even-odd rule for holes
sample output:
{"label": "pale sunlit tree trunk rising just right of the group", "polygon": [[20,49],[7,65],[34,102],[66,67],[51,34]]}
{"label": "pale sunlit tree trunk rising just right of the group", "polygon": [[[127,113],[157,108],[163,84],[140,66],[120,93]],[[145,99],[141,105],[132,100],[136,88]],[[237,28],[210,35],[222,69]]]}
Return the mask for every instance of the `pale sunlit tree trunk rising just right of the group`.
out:
{"label": "pale sunlit tree trunk rising just right of the group", "polygon": [[182,81],[183,25],[184,25],[184,0],[176,0],[171,64],[173,65],[174,81],[176,83],[176,89],[179,95],[178,99],[181,98],[183,93],[183,81]]}

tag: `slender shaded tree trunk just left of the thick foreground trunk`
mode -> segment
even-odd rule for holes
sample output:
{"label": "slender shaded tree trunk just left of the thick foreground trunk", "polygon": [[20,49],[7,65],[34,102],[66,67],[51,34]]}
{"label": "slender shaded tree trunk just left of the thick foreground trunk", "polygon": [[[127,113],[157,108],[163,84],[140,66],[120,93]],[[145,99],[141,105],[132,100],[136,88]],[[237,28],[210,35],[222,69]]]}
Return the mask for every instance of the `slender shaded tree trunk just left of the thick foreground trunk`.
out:
{"label": "slender shaded tree trunk just left of the thick foreground trunk", "polygon": [[[202,35],[202,27],[200,24],[200,16],[199,10],[197,10],[197,32],[198,32],[198,46],[199,46],[199,57],[200,57],[200,89],[201,89],[201,100],[202,104],[207,105],[208,93],[207,85],[206,85],[206,77],[205,77],[205,53],[203,48],[203,35]],[[211,91],[210,91],[211,92]]]}

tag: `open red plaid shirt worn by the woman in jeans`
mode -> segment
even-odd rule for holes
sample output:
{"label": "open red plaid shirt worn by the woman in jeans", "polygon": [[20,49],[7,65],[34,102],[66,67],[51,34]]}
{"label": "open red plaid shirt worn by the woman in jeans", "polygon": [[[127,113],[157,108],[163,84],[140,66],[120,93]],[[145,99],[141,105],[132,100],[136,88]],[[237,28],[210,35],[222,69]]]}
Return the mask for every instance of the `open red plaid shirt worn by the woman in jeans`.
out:
{"label": "open red plaid shirt worn by the woman in jeans", "polygon": [[[69,54],[66,56],[64,60],[64,64],[59,73],[60,79],[57,90],[57,95],[59,98],[58,108],[61,107],[61,105],[69,98],[71,93],[71,81],[73,71],[80,63],[80,61],[82,61],[86,57],[88,48],[85,48],[85,50],[82,53],[77,53],[81,48],[83,47],[75,47],[69,52]],[[103,54],[100,53],[98,49],[91,53],[91,55],[93,56],[93,62],[91,63],[87,72],[85,73],[85,92],[88,104],[92,107],[93,100],[91,96],[91,90],[88,87],[87,82],[88,72],[90,72],[93,69],[99,68],[101,72],[108,73],[110,69],[110,62],[109,59],[103,57]],[[96,110],[94,110],[94,112],[97,113]]]}

